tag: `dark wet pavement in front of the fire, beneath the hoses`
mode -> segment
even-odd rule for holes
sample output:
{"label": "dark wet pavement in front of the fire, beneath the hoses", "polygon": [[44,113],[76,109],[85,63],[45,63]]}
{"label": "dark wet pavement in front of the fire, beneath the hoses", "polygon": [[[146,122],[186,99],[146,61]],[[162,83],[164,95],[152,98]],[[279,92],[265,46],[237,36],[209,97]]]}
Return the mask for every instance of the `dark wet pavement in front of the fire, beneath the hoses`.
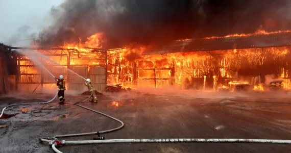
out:
{"label": "dark wet pavement in front of the fire, beneath the hoses", "polygon": [[[0,107],[49,100],[53,94],[1,97]],[[291,140],[291,94],[212,93],[196,91],[125,92],[100,95],[98,104],[80,105],[125,123],[105,139],[234,138]],[[39,138],[98,132],[120,123],[74,105],[85,95],[66,94],[43,105],[15,106],[0,119],[0,152],[54,152]],[[18,102],[19,101],[19,102]],[[24,111],[23,111],[24,110]],[[97,135],[63,140],[93,140]],[[62,140],[62,139],[60,139]],[[63,152],[289,152],[291,144],[261,143],[123,143],[65,145]]]}

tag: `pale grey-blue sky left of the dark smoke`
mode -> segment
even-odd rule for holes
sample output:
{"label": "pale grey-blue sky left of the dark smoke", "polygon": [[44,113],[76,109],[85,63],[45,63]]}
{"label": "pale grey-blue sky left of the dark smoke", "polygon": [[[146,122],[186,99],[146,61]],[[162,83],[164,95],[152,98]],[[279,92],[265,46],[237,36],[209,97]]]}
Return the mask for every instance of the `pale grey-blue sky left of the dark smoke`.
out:
{"label": "pale grey-blue sky left of the dark smoke", "polygon": [[[26,46],[50,25],[49,12],[64,0],[0,0],[0,43]],[[29,40],[26,40],[29,39]]]}

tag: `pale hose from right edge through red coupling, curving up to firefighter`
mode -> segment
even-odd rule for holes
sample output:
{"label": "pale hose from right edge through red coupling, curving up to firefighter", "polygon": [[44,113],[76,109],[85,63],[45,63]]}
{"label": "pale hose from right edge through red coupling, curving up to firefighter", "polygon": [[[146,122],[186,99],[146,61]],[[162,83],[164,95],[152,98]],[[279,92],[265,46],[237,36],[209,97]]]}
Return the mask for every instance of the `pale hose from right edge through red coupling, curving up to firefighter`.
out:
{"label": "pale hose from right edge through red coupling, curving up to firefighter", "polygon": [[[91,96],[91,95],[90,95]],[[88,99],[88,98],[87,98]],[[87,100],[86,99],[86,100]],[[57,149],[57,147],[61,145],[79,145],[79,144],[105,144],[105,143],[183,143],[183,142],[192,142],[192,143],[281,143],[281,144],[291,144],[291,140],[277,140],[277,139],[201,139],[201,138],[173,138],[173,139],[108,139],[108,140],[77,140],[77,141],[58,141],[57,138],[63,138],[63,137],[76,137],[76,136],[87,136],[87,135],[96,135],[96,134],[104,134],[116,131],[118,129],[121,129],[124,126],[124,123],[120,121],[119,119],[116,119],[114,117],[111,117],[107,114],[101,113],[99,111],[84,107],[82,105],[79,105],[79,103],[82,103],[86,100],[83,100],[81,102],[75,103],[74,105],[77,105],[79,107],[82,107],[84,109],[93,111],[95,113],[102,114],[104,116],[107,116],[111,119],[114,119],[118,122],[120,122],[122,125],[119,127],[116,127],[115,129],[106,130],[106,131],[100,131],[100,132],[91,132],[91,133],[80,133],[80,134],[68,134],[68,135],[57,135],[52,138],[41,138],[40,141],[43,142],[49,142],[49,144],[52,146],[53,150],[55,152],[61,152]],[[55,139],[55,140],[49,140],[49,139]]]}

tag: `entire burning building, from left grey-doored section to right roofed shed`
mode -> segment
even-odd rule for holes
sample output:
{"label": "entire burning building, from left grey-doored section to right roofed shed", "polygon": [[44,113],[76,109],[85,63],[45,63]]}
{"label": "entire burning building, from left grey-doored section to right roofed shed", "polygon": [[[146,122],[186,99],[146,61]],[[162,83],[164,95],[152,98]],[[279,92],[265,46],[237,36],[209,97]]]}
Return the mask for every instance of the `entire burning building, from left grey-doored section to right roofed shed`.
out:
{"label": "entire burning building, from left grey-doored section to right roofed shed", "polygon": [[[90,78],[99,91],[104,91],[107,84],[197,90],[248,84],[261,89],[259,85],[270,83],[267,75],[283,80],[284,88],[290,88],[289,31],[176,40],[154,49],[141,45],[103,49],[102,36],[98,33],[84,44],[56,48],[2,44],[11,59],[9,73],[13,77],[9,78],[15,81],[10,84],[25,91],[50,88],[54,80],[45,73],[45,67],[56,76],[65,74],[71,90],[83,88],[82,78]],[[44,67],[38,67],[30,56],[13,54],[19,49],[39,53],[37,60]]]}

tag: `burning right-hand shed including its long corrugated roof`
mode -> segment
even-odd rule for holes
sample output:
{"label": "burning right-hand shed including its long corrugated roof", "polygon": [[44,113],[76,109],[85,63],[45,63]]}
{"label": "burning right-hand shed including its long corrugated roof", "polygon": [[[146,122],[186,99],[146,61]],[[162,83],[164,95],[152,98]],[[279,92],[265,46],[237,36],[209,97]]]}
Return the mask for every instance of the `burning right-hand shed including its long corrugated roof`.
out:
{"label": "burning right-hand shed including its long corrugated roof", "polygon": [[241,82],[258,89],[258,85],[270,81],[265,78],[270,74],[273,79],[284,80],[285,88],[289,88],[290,38],[289,31],[260,31],[177,40],[158,49],[140,48],[143,49],[140,54],[132,53],[136,55],[134,61],[126,60],[125,56],[115,58],[118,61],[108,70],[111,74],[119,73],[115,75],[116,81],[151,87],[177,85],[183,89],[216,90]]}

